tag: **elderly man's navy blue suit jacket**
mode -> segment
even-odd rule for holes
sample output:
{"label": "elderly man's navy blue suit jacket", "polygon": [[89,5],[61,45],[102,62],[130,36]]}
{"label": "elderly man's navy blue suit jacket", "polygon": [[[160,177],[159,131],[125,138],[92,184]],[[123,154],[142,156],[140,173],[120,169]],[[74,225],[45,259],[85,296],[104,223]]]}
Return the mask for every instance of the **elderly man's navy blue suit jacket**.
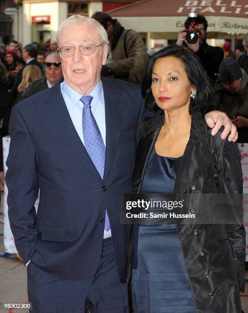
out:
{"label": "elderly man's navy blue suit jacket", "polygon": [[102,82],[103,180],[73,126],[60,83],[12,108],[6,174],[9,219],[24,263],[31,259],[59,278],[84,280],[94,275],[101,258],[107,209],[117,270],[125,282],[129,225],[120,224],[120,197],[132,192],[143,101],[137,85],[111,79]]}

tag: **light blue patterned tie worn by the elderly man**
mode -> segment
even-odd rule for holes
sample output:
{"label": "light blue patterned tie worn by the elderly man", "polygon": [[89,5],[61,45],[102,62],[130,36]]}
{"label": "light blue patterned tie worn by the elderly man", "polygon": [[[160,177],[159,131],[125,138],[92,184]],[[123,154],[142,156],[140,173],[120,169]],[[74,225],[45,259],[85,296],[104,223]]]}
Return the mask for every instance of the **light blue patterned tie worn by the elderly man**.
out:
{"label": "light blue patterned tie worn by the elderly man", "polygon": [[[95,168],[103,179],[104,176],[104,165],[105,165],[105,145],[104,141],[98,128],[96,121],[91,112],[90,103],[93,97],[83,96],[80,101],[83,102],[83,136],[84,136],[84,146],[87,150],[91,161],[93,162]],[[104,229],[108,232],[110,231],[110,223],[108,213],[106,211],[105,215],[105,226]]]}

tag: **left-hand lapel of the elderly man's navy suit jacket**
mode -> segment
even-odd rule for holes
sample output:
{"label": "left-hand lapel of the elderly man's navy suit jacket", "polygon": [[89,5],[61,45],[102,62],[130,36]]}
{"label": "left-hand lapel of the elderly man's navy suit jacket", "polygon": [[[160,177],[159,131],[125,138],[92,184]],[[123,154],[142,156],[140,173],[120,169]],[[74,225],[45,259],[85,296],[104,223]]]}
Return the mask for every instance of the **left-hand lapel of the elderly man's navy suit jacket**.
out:
{"label": "left-hand lapel of the elderly man's navy suit jacket", "polygon": [[61,140],[66,143],[71,153],[73,153],[92,174],[102,180],[71,121],[60,90],[60,82],[48,91],[44,97],[44,103],[46,105],[45,113],[47,119],[51,122],[55,131],[60,134]]}

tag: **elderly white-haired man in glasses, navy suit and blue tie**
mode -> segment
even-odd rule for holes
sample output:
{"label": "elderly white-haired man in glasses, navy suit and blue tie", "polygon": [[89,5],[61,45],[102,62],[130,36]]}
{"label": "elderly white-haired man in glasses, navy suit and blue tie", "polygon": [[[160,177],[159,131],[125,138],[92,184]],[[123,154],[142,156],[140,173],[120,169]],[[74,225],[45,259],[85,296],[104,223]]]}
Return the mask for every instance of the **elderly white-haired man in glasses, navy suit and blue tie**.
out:
{"label": "elderly white-haired man in glasses, navy suit and blue tie", "polygon": [[127,312],[119,204],[132,191],[140,88],[101,79],[108,38],[94,19],[70,16],[57,43],[64,81],[15,105],[10,121],[9,219],[29,301],[33,313]]}

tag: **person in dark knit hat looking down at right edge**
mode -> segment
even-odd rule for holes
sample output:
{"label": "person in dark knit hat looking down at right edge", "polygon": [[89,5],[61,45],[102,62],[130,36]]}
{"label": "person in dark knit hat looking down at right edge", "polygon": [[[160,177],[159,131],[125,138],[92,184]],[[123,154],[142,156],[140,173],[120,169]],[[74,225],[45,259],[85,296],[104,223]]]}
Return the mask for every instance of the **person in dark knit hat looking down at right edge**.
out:
{"label": "person in dark knit hat looking down at right edge", "polygon": [[238,142],[248,143],[248,74],[233,58],[219,66],[213,107],[225,112],[238,128]]}

